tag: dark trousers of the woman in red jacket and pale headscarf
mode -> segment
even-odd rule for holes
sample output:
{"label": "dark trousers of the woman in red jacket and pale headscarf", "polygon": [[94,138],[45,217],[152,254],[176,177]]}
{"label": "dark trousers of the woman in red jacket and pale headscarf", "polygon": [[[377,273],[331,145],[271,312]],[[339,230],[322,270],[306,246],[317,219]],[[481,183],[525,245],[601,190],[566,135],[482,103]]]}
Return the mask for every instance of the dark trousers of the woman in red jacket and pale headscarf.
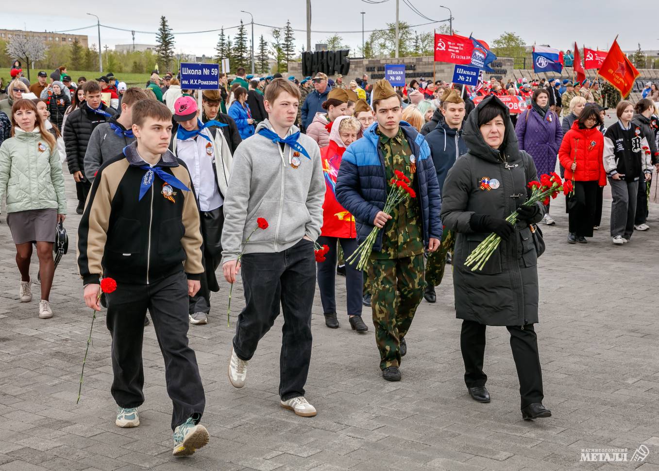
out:
{"label": "dark trousers of the woman in red jacket and pale headscarf", "polygon": [[[327,245],[329,252],[324,262],[318,262],[318,288],[323,312],[331,314],[336,312],[336,253],[337,241],[343,248],[343,259],[347,259],[357,250],[357,239],[344,239],[339,237],[318,237],[320,245]],[[348,315],[362,315],[362,279],[363,273],[357,270],[357,261],[350,265],[345,264],[345,294],[347,298]]]}

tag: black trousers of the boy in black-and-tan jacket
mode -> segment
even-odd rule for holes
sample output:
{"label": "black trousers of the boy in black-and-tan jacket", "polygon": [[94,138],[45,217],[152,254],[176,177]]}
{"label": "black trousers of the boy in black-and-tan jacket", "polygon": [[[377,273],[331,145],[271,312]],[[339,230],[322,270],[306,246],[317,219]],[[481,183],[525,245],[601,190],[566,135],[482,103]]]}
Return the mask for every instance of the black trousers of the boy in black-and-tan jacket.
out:
{"label": "black trousers of the boy in black-and-tan jacket", "polygon": [[144,403],[142,338],[148,309],[165,360],[167,394],[173,402],[171,428],[198,421],[206,398],[197,359],[188,346],[188,282],[183,271],[158,282],[125,284],[107,298],[107,329],[112,336],[112,396],[120,407]]}

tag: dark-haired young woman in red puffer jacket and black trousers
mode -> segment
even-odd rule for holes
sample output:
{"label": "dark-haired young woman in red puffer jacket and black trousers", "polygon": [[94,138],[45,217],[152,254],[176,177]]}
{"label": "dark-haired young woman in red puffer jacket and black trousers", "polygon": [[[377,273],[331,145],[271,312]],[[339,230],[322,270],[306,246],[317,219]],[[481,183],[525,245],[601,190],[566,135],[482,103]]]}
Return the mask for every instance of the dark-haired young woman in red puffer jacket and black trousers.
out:
{"label": "dark-haired young woman in red puffer jacket and black trousers", "polygon": [[606,185],[602,154],[604,136],[599,130],[602,118],[597,105],[587,104],[569,131],[565,133],[558,159],[565,168],[565,179],[574,181],[574,193],[569,198],[568,243],[587,243],[592,237],[597,197]]}

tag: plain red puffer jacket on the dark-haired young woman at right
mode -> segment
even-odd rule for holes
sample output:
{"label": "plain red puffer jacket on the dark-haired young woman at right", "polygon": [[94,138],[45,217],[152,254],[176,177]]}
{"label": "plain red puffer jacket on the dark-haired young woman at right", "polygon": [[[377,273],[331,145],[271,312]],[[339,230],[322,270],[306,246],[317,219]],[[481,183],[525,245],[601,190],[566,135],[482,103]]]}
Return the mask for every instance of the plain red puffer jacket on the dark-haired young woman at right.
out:
{"label": "plain red puffer jacket on the dark-haired young woman at right", "polygon": [[600,187],[606,185],[606,172],[602,154],[604,152],[604,136],[596,127],[579,129],[579,121],[563,136],[561,148],[558,150],[558,160],[565,167],[565,179],[572,179],[572,164],[577,157],[577,170],[574,172],[576,181],[598,181]]}

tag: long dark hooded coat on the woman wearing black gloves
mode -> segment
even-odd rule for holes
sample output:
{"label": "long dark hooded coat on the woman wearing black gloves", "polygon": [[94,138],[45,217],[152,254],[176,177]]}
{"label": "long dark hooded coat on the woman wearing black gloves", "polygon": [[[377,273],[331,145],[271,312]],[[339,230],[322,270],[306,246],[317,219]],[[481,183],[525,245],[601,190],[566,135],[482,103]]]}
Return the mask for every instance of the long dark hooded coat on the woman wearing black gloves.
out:
{"label": "long dark hooded coat on the woman wearing black gloves", "polygon": [[[504,112],[505,136],[500,150],[484,141],[478,129],[478,111],[494,102]],[[511,241],[501,241],[482,271],[465,267],[465,259],[489,234],[473,232],[469,225],[472,214],[488,214],[506,218],[524,203],[529,195],[527,183],[536,179],[533,159],[519,150],[508,108],[488,96],[469,115],[463,139],[469,152],[461,156],[449,170],[442,191],[442,222],[455,230],[453,286],[455,310],[459,319],[484,325],[527,325],[538,322],[538,270],[536,249],[526,222],[518,222]],[[482,177],[498,180],[490,191],[480,189]],[[494,185],[493,185],[494,186]],[[533,222],[544,214],[540,213]]]}

